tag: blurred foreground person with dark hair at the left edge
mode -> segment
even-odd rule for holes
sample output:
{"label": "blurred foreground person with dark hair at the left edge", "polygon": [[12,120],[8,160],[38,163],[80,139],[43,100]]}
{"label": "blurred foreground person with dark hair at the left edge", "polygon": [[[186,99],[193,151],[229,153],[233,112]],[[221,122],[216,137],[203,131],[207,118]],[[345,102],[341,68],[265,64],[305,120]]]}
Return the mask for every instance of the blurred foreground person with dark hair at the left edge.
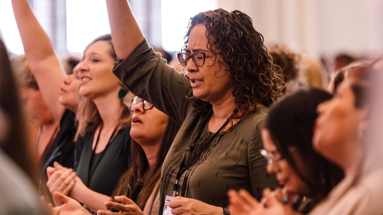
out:
{"label": "blurred foreground person with dark hair at the left edge", "polygon": [[19,90],[0,40],[0,207],[3,215],[45,215]]}

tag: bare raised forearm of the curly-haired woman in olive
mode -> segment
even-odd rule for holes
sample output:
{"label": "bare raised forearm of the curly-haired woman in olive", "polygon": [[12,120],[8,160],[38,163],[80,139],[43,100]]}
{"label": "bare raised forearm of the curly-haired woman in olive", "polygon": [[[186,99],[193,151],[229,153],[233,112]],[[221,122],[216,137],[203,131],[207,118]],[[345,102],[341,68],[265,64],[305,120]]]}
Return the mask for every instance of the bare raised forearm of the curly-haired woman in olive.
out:
{"label": "bare raised forearm of the curly-haired woman in olive", "polygon": [[113,45],[117,57],[127,58],[144,40],[144,35],[127,0],[106,0]]}

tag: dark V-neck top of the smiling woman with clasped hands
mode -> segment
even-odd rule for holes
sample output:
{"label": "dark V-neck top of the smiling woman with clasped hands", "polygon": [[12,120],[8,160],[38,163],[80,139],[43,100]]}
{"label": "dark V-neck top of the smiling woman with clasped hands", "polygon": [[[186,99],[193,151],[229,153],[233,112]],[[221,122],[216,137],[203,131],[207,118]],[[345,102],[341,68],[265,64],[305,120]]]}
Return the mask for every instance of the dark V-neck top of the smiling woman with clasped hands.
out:
{"label": "dark V-neck top of the smiling woman with clasped hands", "polygon": [[[86,132],[76,143],[75,171],[82,182],[91,190],[111,196],[122,174],[131,165],[130,126],[118,131],[116,137],[104,151],[93,156],[94,132]],[[101,159],[101,160],[100,160]],[[90,165],[89,165],[90,164]],[[91,172],[89,173],[89,166]],[[88,179],[89,175],[89,179]]]}

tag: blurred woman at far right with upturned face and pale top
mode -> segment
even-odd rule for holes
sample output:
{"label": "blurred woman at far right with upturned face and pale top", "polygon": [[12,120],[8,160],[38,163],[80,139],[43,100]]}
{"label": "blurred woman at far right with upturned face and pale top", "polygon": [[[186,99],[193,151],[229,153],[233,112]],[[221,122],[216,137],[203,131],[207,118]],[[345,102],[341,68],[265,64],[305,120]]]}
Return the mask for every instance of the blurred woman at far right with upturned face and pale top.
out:
{"label": "blurred woman at far right with upturned face and pale top", "polygon": [[[380,70],[362,65],[349,70],[332,100],[318,106],[313,143],[323,156],[338,164],[345,178],[311,214],[382,214],[382,168],[368,168],[373,159],[367,129],[371,128],[372,78]],[[374,76],[375,75],[375,76]],[[367,167],[367,168],[366,168]],[[371,167],[371,166],[370,166]]]}

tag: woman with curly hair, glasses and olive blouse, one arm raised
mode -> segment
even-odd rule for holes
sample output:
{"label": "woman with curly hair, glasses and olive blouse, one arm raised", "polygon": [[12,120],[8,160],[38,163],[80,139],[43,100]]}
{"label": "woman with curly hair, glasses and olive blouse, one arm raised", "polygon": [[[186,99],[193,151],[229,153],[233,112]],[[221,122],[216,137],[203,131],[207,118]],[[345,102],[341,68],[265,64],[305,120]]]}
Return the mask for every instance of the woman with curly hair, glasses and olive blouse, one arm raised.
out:
{"label": "woman with curly hair, glasses and olive blouse, one arm raised", "polygon": [[259,199],[278,186],[259,155],[260,127],[284,82],[251,18],[223,9],[192,17],[183,75],[149,47],[126,0],[106,2],[114,74],[181,124],[162,167],[160,214],[229,214],[228,189]]}

